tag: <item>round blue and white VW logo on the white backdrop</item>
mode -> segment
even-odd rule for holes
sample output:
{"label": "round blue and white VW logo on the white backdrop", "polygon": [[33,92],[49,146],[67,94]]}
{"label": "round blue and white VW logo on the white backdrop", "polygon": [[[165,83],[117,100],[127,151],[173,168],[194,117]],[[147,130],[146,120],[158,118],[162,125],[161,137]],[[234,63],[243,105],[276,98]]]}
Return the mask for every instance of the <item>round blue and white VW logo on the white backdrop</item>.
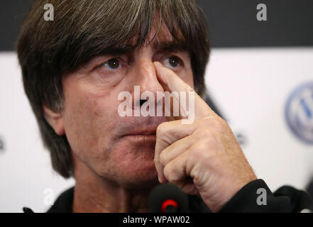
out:
{"label": "round blue and white VW logo on the white backdrop", "polygon": [[292,92],[287,100],[285,118],[298,138],[313,144],[313,82],[302,84]]}

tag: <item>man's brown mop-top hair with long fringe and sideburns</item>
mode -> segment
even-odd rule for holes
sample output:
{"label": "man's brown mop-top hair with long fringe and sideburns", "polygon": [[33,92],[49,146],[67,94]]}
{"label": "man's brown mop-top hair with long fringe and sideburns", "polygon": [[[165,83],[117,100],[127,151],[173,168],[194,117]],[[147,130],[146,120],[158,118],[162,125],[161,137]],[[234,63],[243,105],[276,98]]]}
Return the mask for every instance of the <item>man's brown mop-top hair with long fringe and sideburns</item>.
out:
{"label": "man's brown mop-top hair with long fringe and sideburns", "polygon": [[[45,4],[53,5],[54,21],[44,20]],[[45,121],[43,105],[60,111],[62,76],[92,57],[114,52],[136,35],[136,45],[143,45],[155,12],[174,40],[186,44],[194,87],[204,97],[209,40],[204,13],[194,0],[38,0],[28,12],[17,44],[23,85],[53,169],[63,177],[72,175],[70,145]]]}

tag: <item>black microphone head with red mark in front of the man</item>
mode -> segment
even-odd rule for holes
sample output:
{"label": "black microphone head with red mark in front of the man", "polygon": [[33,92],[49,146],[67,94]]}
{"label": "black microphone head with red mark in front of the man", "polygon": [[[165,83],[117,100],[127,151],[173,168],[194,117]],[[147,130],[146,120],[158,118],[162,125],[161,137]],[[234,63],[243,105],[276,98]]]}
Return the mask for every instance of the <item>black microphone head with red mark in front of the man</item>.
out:
{"label": "black microphone head with red mark in front of the man", "polygon": [[173,184],[160,184],[150,193],[149,206],[153,213],[186,213],[188,196]]}

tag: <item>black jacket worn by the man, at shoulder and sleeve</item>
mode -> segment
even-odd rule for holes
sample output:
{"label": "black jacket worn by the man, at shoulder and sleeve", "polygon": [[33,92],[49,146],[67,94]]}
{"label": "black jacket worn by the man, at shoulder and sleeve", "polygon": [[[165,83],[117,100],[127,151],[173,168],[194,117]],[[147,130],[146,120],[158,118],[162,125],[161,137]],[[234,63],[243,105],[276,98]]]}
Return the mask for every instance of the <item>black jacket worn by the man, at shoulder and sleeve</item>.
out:
{"label": "black jacket worn by the man, at shoulder and sleeve", "polygon": [[[257,202],[258,189],[266,190],[266,201]],[[71,213],[74,187],[60,194],[48,213]],[[260,204],[260,205],[258,205]],[[211,212],[199,196],[189,196],[190,212]],[[313,199],[304,191],[290,186],[280,187],[272,193],[263,179],[246,184],[219,211],[221,213],[239,212],[303,212],[313,210]],[[27,209],[24,209],[27,212]],[[28,210],[29,211],[29,210]]]}

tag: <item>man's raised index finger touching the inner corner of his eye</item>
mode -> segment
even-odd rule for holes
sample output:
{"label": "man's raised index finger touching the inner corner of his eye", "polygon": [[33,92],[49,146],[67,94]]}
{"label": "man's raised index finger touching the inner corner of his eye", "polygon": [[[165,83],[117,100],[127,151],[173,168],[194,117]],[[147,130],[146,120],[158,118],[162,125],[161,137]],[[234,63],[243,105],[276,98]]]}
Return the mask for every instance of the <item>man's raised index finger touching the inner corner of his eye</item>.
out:
{"label": "man's raised index finger touching the inner corner of his eye", "polygon": [[[180,77],[175,74],[168,67],[164,67],[160,62],[153,62],[155,65],[155,70],[159,81],[164,84],[165,88],[168,88],[168,92],[194,92],[194,89],[190,85],[186,84]],[[190,110],[189,110],[190,111]],[[201,119],[206,116],[212,115],[214,111],[209,107],[209,105],[201,99],[201,97],[194,92],[194,118]]]}

